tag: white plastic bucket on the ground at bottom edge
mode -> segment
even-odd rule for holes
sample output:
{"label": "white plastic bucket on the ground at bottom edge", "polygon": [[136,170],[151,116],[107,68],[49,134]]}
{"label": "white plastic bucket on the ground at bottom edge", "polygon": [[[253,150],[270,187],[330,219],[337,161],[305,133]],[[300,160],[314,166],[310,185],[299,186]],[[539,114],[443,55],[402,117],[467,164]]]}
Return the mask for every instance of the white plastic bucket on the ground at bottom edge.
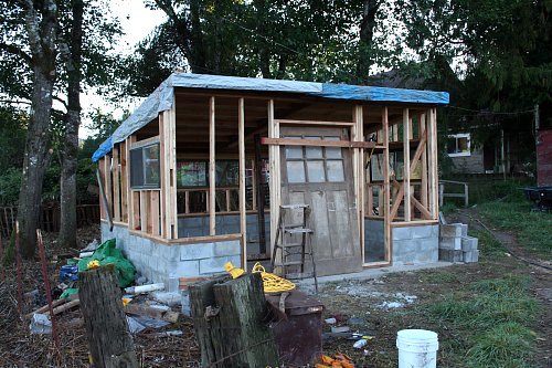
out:
{"label": "white plastic bucket on the ground at bottom edge", "polygon": [[435,368],[439,341],[437,334],[425,329],[403,329],[396,334],[399,368]]}

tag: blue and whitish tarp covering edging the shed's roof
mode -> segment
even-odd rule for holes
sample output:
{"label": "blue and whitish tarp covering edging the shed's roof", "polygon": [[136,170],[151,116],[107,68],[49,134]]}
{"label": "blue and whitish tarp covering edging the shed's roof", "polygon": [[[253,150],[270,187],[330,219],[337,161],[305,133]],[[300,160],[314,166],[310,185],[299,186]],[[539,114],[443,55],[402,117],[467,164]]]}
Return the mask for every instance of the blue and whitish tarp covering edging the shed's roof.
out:
{"label": "blue and whitish tarp covering edging the shed's roof", "polygon": [[94,153],[92,160],[99,160],[113,149],[114,144],[125,140],[132,133],[157,118],[159,113],[170,109],[174,99],[174,87],[286,92],[331,99],[361,102],[371,101],[426,105],[448,104],[448,93],[446,92],[173,73],[99,146]]}

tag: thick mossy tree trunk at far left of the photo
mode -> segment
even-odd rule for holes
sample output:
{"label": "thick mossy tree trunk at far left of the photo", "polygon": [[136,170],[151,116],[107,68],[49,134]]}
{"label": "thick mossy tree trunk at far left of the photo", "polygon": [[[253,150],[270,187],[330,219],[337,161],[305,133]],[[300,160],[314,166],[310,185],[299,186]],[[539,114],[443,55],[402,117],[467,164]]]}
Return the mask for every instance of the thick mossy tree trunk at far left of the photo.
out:
{"label": "thick mossy tree trunk at far left of the photo", "polygon": [[19,193],[18,221],[21,230],[22,256],[31,259],[36,249],[42,181],[51,155],[47,146],[55,81],[57,7],[53,0],[26,1],[24,4],[25,29],[32,55],[30,64],[33,72],[33,91]]}

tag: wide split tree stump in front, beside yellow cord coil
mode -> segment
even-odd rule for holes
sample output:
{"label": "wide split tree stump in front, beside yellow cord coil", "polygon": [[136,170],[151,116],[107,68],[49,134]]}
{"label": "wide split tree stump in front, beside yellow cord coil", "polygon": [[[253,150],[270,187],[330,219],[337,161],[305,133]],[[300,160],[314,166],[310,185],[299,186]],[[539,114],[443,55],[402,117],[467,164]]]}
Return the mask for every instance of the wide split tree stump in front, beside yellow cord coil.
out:
{"label": "wide split tree stump in front, beside yellow cord coil", "polygon": [[277,366],[261,274],[209,280],[189,290],[203,367]]}

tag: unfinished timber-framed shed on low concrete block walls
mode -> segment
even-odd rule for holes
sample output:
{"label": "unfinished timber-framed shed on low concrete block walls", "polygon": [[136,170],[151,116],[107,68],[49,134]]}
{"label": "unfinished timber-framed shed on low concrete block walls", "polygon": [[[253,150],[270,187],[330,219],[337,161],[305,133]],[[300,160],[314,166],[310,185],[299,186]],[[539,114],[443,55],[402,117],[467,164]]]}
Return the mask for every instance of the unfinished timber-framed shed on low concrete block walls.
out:
{"label": "unfinished timber-framed shed on low concrete block walls", "polygon": [[447,103],[444,92],[174,73],[93,157],[103,240],[178,291],[227,261],[269,257],[280,206],[306,203],[319,275],[436,262],[436,107]]}

